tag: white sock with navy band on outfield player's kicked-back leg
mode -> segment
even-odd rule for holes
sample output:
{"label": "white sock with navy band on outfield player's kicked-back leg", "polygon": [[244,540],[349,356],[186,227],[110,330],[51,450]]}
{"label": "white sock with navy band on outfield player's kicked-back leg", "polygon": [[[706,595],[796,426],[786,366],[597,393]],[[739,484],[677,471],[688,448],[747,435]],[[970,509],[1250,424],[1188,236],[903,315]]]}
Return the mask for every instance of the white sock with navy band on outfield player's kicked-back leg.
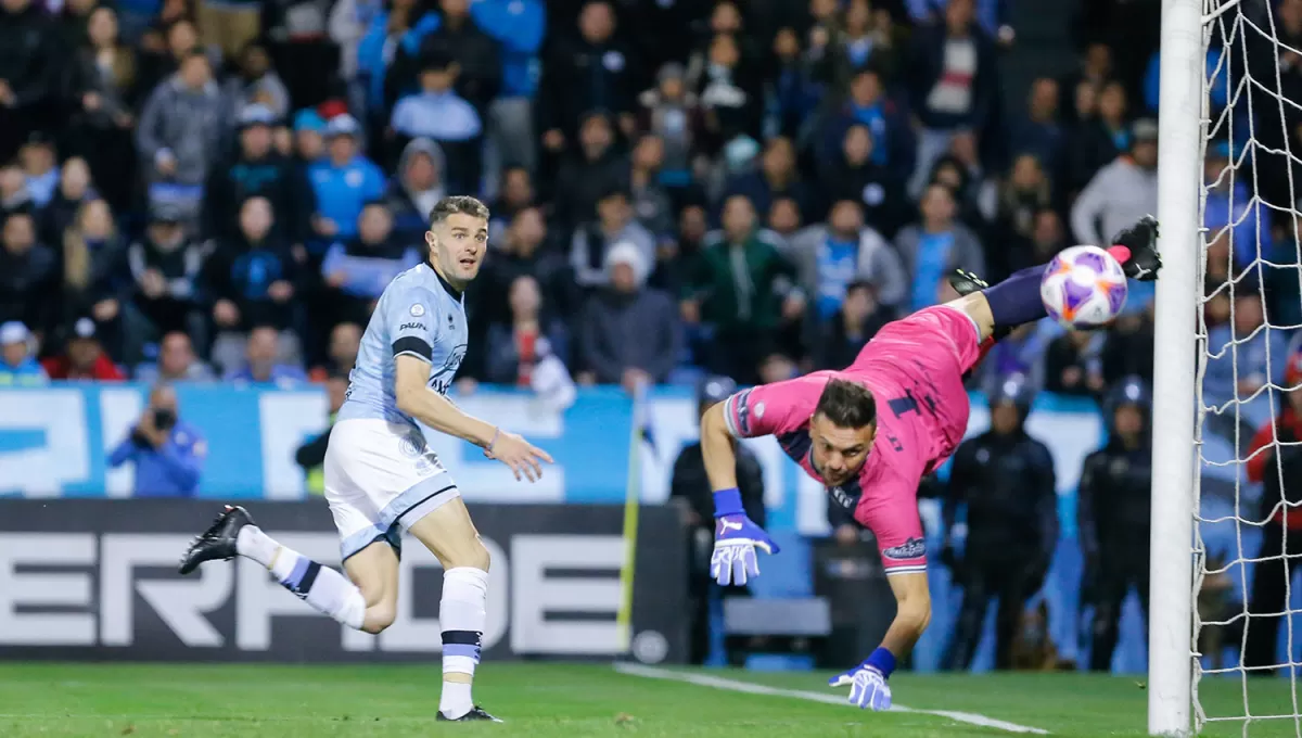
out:
{"label": "white sock with navy band on outfield player's kicked-back leg", "polygon": [[366,597],[339,571],[280,545],[255,526],[240,530],[236,551],[270,569],[271,575],[283,587],[298,595],[318,612],[354,630],[362,629],[362,622],[366,620]]}

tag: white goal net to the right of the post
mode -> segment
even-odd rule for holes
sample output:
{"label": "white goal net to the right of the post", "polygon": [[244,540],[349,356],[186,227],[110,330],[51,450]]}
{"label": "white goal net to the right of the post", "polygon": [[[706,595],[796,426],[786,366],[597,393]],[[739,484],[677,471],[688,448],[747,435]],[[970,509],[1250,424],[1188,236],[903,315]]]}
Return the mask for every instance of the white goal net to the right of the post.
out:
{"label": "white goal net to the right of the post", "polygon": [[1203,14],[1193,707],[1198,728],[1302,738],[1302,475],[1276,463],[1298,444],[1275,431],[1302,333],[1302,0]]}

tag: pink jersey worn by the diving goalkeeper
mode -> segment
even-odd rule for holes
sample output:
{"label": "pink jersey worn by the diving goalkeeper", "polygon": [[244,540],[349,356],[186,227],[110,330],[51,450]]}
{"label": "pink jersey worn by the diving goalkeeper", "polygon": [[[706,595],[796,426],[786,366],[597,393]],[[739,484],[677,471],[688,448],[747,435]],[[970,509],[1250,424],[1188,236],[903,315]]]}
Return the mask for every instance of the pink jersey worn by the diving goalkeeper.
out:
{"label": "pink jersey worn by the diving goalkeeper", "polygon": [[858,478],[828,495],[876,536],[887,574],[926,571],[918,483],[949,458],[967,430],[963,372],[979,359],[971,319],[928,307],[884,327],[842,371],[733,394],[724,418],[733,436],[775,436],[786,456],[822,482],[810,462],[809,423],[823,387],[833,377],[867,387],[878,405],[876,437]]}

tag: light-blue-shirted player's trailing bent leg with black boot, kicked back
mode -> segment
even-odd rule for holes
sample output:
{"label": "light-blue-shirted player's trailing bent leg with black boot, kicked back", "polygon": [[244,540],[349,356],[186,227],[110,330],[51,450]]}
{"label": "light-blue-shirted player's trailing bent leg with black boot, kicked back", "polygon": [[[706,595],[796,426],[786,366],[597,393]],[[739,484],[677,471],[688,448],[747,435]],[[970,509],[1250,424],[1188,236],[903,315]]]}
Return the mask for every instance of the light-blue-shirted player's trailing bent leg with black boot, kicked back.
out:
{"label": "light-blue-shirted player's trailing bent leg with black boot, kicked back", "polygon": [[227,505],[186,549],[180,571],[189,574],[204,561],[236,556],[262,564],[283,587],[349,627],[379,633],[393,622],[398,560],[388,544],[367,545],[350,556],[345,562],[350,582],[329,566],[277,543],[254,525],[243,508]]}

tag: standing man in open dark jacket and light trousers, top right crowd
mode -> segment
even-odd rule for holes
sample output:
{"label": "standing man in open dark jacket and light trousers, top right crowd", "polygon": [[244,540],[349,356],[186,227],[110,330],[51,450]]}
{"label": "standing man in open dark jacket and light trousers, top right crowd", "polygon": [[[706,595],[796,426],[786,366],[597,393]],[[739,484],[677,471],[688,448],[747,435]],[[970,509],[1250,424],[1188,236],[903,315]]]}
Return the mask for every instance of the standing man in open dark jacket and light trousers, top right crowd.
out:
{"label": "standing man in open dark jacket and light trousers, top right crowd", "polygon": [[914,31],[909,95],[922,130],[910,191],[922,191],[956,130],[984,130],[995,115],[995,48],[974,16],[974,0],[950,0],[943,23]]}

